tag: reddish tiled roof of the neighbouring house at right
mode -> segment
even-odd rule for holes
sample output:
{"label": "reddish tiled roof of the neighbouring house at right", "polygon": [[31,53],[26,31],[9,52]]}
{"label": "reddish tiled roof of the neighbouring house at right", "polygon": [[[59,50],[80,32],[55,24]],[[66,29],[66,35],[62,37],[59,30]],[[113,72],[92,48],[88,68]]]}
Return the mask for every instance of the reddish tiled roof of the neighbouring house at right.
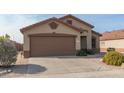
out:
{"label": "reddish tiled roof of the neighbouring house at right", "polygon": [[124,29],[113,30],[112,32],[105,32],[100,37],[100,40],[116,40],[116,39],[124,39]]}

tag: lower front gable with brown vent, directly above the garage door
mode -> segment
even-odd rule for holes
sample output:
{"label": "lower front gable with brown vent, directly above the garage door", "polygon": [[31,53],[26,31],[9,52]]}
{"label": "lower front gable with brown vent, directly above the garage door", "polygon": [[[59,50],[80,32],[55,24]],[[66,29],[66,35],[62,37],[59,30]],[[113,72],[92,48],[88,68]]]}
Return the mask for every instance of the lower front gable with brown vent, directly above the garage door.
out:
{"label": "lower front gable with brown vent, directly above the garage door", "polygon": [[[51,26],[55,27],[51,27]],[[57,20],[49,20],[43,24],[38,24],[33,27],[23,28],[23,33],[30,35],[30,34],[40,34],[40,33],[64,33],[64,34],[72,34],[77,35],[79,31],[75,28],[72,28],[64,23],[61,23]]]}

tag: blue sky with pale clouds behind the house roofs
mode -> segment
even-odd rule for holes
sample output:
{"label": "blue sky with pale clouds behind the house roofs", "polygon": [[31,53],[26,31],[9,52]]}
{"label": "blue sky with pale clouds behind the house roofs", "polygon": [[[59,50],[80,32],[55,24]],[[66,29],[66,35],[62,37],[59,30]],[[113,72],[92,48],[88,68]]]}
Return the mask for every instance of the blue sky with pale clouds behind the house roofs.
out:
{"label": "blue sky with pale clouds behind the house roofs", "polygon": [[[23,35],[19,29],[50,17],[64,14],[1,14],[0,35],[9,34],[12,40],[22,43]],[[95,26],[97,32],[124,29],[124,14],[74,14],[74,16]]]}

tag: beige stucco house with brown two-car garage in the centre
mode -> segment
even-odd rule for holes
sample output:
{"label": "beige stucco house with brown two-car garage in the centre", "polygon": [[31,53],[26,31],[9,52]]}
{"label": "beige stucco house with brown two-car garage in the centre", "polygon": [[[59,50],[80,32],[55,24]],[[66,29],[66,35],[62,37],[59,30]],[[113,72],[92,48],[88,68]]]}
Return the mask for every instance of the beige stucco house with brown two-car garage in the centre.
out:
{"label": "beige stucco house with brown two-car garage in the centre", "polygon": [[50,18],[24,27],[24,57],[75,55],[76,50],[99,51],[101,34],[93,25],[72,15]]}

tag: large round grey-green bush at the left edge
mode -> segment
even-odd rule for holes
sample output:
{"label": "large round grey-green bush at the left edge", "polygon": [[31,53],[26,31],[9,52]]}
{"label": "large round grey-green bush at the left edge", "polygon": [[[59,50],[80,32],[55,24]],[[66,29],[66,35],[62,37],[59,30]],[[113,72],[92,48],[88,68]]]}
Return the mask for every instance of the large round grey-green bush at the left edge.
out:
{"label": "large round grey-green bush at the left edge", "polygon": [[11,66],[16,60],[17,50],[13,42],[6,37],[0,37],[0,66]]}

